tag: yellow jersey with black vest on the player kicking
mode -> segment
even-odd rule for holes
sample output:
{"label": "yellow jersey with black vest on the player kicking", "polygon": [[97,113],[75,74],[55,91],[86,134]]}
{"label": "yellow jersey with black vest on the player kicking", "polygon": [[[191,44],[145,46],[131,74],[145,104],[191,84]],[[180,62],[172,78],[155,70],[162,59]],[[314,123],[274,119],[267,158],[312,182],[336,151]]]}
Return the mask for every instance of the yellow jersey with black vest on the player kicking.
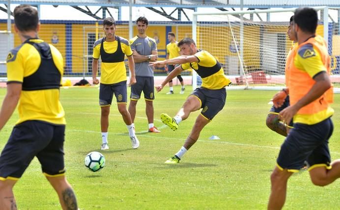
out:
{"label": "yellow jersey with black vest on the player kicking", "polygon": [[198,50],[194,56],[197,57],[198,62],[185,63],[182,64],[181,67],[183,70],[194,69],[202,78],[202,87],[216,90],[228,86],[231,83],[225,76],[220,62],[210,53]]}

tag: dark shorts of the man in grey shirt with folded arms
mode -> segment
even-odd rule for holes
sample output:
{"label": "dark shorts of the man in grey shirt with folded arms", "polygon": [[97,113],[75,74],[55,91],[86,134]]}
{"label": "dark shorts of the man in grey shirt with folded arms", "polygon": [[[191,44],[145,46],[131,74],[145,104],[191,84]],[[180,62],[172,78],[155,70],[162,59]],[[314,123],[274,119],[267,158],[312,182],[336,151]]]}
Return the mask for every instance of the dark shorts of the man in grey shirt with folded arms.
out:
{"label": "dark shorts of the man in grey shirt with folded arms", "polygon": [[136,84],[131,85],[130,99],[133,101],[138,101],[141,98],[141,94],[143,91],[144,99],[148,101],[153,101],[155,99],[155,87],[153,78],[136,76],[136,80]]}

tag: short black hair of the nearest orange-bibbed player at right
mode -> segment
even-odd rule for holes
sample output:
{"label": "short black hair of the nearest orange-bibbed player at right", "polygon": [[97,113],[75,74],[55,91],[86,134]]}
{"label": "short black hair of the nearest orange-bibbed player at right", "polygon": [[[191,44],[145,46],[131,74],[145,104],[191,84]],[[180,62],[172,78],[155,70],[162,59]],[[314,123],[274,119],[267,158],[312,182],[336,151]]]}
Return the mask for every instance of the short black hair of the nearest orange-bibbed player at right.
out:
{"label": "short black hair of the nearest orange-bibbed player at right", "polygon": [[294,12],[294,22],[302,31],[315,33],[317,27],[317,12],[311,7],[300,7]]}

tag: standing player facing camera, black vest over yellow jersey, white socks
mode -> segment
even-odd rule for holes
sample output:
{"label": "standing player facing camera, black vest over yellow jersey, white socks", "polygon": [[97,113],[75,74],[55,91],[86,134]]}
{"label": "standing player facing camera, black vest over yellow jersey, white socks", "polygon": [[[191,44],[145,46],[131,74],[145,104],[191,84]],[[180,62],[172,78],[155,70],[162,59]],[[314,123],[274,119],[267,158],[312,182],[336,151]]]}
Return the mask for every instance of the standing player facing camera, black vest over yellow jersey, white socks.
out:
{"label": "standing player facing camera, black vest over yellow jersey, white socks", "polygon": [[93,84],[98,84],[98,59],[102,59],[99,105],[101,108],[100,126],[102,131],[102,150],[108,150],[108,129],[109,114],[112,104],[113,94],[115,95],[118,111],[122,115],[129,131],[130,140],[133,149],[137,149],[140,142],[135,134],[135,128],[131,115],[126,108],[127,104],[127,87],[126,87],[126,68],[124,63],[125,55],[128,58],[130,69],[130,85],[136,83],[134,59],[131,56],[132,51],[129,41],[123,37],[114,35],[116,27],[113,18],[105,18],[103,21],[103,30],[105,37],[95,41],[93,45],[92,60],[92,79]]}

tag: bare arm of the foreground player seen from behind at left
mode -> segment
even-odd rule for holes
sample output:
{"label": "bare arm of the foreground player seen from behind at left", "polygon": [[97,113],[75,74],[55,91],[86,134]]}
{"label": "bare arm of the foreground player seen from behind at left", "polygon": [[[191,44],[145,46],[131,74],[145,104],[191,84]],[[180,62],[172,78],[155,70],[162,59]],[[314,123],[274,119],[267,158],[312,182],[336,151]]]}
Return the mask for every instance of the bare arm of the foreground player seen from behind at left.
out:
{"label": "bare arm of the foreground player seen from behind at left", "polygon": [[22,83],[9,83],[7,84],[7,93],[2,102],[0,111],[0,130],[7,123],[8,119],[12,116],[15,107],[19,102],[22,89]]}

